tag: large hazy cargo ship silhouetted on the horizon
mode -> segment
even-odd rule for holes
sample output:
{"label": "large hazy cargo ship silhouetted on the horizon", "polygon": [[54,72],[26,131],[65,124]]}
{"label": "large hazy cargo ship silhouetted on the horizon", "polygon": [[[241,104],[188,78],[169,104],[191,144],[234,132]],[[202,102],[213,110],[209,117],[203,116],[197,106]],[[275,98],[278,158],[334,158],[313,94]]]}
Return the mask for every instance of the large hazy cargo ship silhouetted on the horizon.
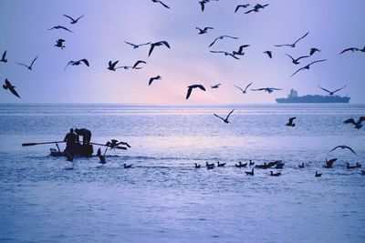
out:
{"label": "large hazy cargo ship silhouetted on the horizon", "polygon": [[292,88],[287,98],[276,98],[277,103],[349,103],[349,96],[297,96],[297,90]]}

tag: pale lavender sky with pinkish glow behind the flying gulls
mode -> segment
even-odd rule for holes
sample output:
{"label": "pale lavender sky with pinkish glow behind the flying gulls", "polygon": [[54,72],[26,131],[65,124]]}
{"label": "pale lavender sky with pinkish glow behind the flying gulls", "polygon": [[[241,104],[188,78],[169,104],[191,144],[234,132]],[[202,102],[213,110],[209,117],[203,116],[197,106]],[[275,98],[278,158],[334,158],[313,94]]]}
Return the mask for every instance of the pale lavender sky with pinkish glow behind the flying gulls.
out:
{"label": "pale lavender sky with pinkish glow behind the flying gulls", "polygon": [[[300,95],[326,95],[318,86],[350,96],[350,103],[365,103],[365,53],[339,53],[348,47],[365,46],[365,1],[349,0],[267,0],[264,2],[220,0],[205,5],[198,0],[163,0],[170,9],[151,0],[1,0],[0,55],[7,50],[7,63],[0,63],[0,79],[7,78],[21,96],[2,89],[1,103],[123,103],[148,105],[220,105],[275,103],[291,88]],[[258,13],[245,14],[242,4],[269,4]],[[71,25],[67,17],[84,15]],[[48,30],[63,25],[62,29]],[[198,35],[195,27],[213,30]],[[300,36],[296,47],[291,44]],[[220,35],[238,39],[218,40]],[[63,50],[54,46],[65,39]],[[133,49],[134,44],[167,41],[171,49],[150,46]],[[214,51],[236,51],[241,45],[245,56],[239,60]],[[307,56],[311,47],[321,50],[292,64],[291,56]],[[273,52],[270,59],[264,51]],[[15,62],[30,64],[29,71]],[[86,58],[89,67],[67,66]],[[298,68],[310,66],[295,76]],[[146,65],[139,70],[107,69],[109,61],[132,66],[137,60]],[[148,86],[152,76],[162,76]],[[235,86],[282,88],[271,94],[248,91]],[[210,86],[219,84],[219,88]],[[193,90],[186,100],[187,86],[201,84],[206,91]]]}

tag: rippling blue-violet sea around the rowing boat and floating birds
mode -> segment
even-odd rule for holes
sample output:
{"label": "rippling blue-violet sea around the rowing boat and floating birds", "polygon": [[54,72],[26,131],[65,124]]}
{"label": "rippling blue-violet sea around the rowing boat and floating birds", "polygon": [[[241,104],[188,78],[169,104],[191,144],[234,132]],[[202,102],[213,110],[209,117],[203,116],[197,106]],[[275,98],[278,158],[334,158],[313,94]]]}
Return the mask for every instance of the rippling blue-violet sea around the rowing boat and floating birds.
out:
{"label": "rippling blue-violet sea around the rowing boat and floating birds", "polygon": [[[365,242],[365,126],[343,123],[360,116],[365,105],[0,104],[0,242]],[[71,127],[130,148],[101,165],[22,147]],[[254,166],[235,164],[249,160],[285,165],[246,176]]]}

